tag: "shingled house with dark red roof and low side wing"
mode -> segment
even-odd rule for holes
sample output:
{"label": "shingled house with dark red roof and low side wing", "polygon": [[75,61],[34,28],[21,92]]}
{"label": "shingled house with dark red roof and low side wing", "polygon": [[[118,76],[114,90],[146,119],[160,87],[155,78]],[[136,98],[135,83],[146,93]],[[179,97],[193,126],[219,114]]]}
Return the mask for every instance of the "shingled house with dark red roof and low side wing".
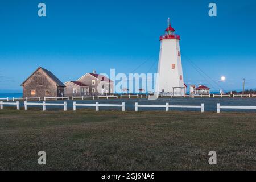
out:
{"label": "shingled house with dark red roof and low side wing", "polygon": [[[65,94],[67,96],[111,94],[114,90],[114,82],[104,75],[86,73],[76,81],[65,82]],[[77,87],[79,86],[79,87]],[[86,89],[86,93],[85,90]]]}

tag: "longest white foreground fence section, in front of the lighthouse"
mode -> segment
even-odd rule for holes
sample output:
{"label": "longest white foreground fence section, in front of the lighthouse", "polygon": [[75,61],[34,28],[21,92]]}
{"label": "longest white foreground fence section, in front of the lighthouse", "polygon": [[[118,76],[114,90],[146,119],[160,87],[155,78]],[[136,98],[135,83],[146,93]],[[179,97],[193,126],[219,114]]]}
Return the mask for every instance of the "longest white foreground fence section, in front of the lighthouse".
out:
{"label": "longest white foreground fence section, in front of the lighthouse", "polygon": [[201,104],[201,106],[188,106],[188,105],[169,105],[169,103],[166,103],[166,105],[139,105],[138,102],[135,102],[135,111],[138,111],[138,107],[158,107],[158,108],[166,108],[166,111],[169,110],[169,108],[185,108],[185,109],[201,109],[201,113],[204,113],[204,103]]}

